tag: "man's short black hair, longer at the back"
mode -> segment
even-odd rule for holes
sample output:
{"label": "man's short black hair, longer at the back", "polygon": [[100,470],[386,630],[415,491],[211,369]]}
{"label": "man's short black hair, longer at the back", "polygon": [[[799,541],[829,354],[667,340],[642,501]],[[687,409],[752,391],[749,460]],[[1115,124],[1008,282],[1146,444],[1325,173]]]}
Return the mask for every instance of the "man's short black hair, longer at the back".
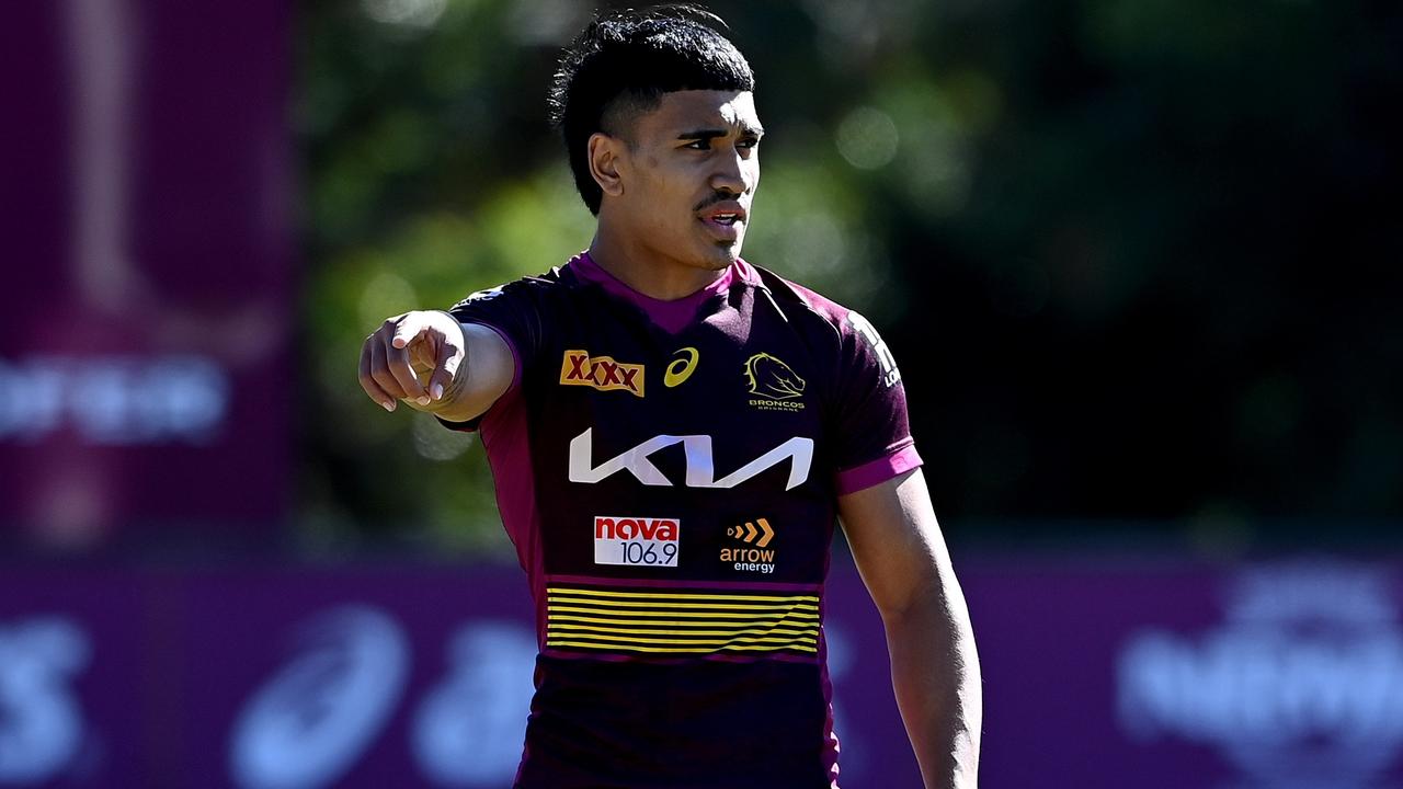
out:
{"label": "man's short black hair, longer at the back", "polygon": [[561,53],[550,88],[550,119],[564,136],[575,188],[589,212],[603,192],[589,174],[589,135],[624,136],[638,114],[678,90],[755,90],[751,65],[697,6],[598,14]]}

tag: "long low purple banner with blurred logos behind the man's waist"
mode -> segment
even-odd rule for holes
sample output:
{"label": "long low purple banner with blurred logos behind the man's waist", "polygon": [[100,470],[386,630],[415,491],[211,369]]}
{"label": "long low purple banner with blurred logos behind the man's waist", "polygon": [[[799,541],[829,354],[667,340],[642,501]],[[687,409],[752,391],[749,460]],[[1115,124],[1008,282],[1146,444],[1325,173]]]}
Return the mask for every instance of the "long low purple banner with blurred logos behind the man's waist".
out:
{"label": "long low purple banner with blurred logos behind the man's waist", "polygon": [[[964,562],[979,785],[1403,785],[1399,566]],[[828,595],[842,785],[919,786],[847,563]],[[0,786],[505,788],[535,647],[516,569],[8,569]]]}

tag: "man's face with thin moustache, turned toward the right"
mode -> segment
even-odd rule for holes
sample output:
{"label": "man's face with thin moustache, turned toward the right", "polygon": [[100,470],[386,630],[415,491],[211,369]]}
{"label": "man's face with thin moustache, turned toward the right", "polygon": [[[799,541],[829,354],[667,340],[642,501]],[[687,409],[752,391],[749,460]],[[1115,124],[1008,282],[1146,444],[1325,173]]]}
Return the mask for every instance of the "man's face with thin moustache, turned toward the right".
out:
{"label": "man's face with thin moustache, turned toward the right", "polygon": [[760,181],[763,129],[751,93],[685,90],[633,119],[619,220],[662,264],[720,270],[741,254]]}

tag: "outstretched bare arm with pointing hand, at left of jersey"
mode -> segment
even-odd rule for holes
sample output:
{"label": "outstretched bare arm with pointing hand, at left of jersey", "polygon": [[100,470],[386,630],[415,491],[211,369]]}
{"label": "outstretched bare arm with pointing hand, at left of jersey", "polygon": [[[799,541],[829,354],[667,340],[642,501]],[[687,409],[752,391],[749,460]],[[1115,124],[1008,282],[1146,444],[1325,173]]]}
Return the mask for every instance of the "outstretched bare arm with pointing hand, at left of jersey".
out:
{"label": "outstretched bare arm with pointing hand, at left of jersey", "polygon": [[512,385],[516,362],[497,331],[438,310],[389,317],[361,347],[361,389],[387,411],[404,402],[448,421],[487,411]]}

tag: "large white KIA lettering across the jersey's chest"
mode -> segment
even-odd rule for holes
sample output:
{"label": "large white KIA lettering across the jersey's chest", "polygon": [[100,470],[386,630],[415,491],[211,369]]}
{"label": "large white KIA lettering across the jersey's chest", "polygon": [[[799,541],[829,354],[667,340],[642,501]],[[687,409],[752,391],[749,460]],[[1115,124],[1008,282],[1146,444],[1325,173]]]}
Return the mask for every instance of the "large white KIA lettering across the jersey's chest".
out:
{"label": "large white KIA lettering across the jersey's chest", "polygon": [[810,468],[814,465],[814,439],[794,437],[724,477],[716,479],[710,435],[654,435],[633,449],[620,452],[596,466],[593,432],[593,428],[589,428],[570,442],[570,482],[593,484],[626,470],[643,484],[672,486],[672,480],[648,458],[678,444],[682,445],[687,460],[686,479],[683,480],[686,487],[735,487],[784,460],[790,460],[788,483],[784,490],[793,490],[808,480]]}

